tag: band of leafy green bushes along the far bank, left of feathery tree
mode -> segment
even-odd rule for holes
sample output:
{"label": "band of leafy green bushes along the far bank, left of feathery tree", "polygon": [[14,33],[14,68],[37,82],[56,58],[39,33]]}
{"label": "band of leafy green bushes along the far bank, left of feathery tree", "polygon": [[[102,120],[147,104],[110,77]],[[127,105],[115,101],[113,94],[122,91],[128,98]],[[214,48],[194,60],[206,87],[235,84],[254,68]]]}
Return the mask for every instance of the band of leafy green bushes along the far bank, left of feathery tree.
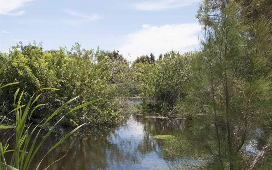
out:
{"label": "band of leafy green bushes along the far bank, left of feathery tree", "polygon": [[[76,43],[71,50],[60,47],[44,51],[35,41],[28,45],[20,42],[8,54],[0,53],[1,66],[6,64],[0,79],[3,83],[20,82],[1,89],[1,115],[5,116],[14,108],[11,94],[17,88],[24,90],[23,103],[40,88],[54,87],[59,90],[39,97],[38,104],[46,105],[34,111],[31,120],[34,123],[78,95],[80,98],[67,110],[89,100],[101,100],[69,114],[63,125],[116,124],[122,115],[130,112],[129,97],[141,98],[143,108],[156,109],[163,116],[169,116],[167,113],[175,101],[184,97],[183,87],[188,82],[194,54],[171,51],[156,60],[151,53],[131,63],[116,50],[86,50]],[[58,114],[56,120],[63,113]]]}

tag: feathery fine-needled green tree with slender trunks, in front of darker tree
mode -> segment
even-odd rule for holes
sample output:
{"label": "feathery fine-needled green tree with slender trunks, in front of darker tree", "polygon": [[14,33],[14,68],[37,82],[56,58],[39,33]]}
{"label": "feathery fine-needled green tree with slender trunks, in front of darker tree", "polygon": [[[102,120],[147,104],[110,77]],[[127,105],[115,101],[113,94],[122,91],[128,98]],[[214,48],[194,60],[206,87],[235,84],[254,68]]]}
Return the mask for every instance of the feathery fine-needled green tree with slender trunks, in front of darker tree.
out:
{"label": "feathery fine-needled green tree with slender trunks, in front of darker tree", "polygon": [[[183,113],[201,114],[204,124],[213,124],[214,133],[201,138],[213,145],[214,157],[203,165],[209,169],[247,166],[243,146],[251,135],[249,127],[267,124],[271,117],[271,21],[244,25],[239,10],[229,3],[218,13],[217,22],[205,28],[186,97],[179,105]],[[196,144],[187,146],[205,152]]]}

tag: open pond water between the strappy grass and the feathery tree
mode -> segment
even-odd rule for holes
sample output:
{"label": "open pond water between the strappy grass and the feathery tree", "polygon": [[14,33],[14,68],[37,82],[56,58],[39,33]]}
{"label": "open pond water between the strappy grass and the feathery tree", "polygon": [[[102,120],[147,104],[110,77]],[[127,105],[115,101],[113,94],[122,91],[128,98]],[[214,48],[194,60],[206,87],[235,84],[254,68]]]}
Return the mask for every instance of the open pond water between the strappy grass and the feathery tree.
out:
{"label": "open pond water between the strappy grass and the feathery tree", "polygon": [[[66,157],[49,169],[167,169],[181,160],[164,154],[163,143],[166,141],[155,139],[153,136],[182,133],[183,125],[183,120],[162,120],[133,115],[115,128],[97,130],[83,127],[52,151],[43,160],[41,169],[65,155],[67,150],[69,151]],[[48,130],[49,128],[43,130],[39,140]],[[51,133],[33,160],[33,169],[50,147],[70,130],[59,128]],[[5,138],[13,132],[2,130],[0,136]]]}

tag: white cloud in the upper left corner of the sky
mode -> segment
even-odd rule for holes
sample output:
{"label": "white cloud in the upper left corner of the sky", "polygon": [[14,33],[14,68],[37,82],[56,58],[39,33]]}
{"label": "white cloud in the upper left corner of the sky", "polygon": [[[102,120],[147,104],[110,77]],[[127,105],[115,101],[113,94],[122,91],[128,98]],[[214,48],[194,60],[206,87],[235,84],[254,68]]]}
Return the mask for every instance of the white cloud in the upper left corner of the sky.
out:
{"label": "white cloud in the upper left corner of the sky", "polygon": [[3,15],[23,15],[25,13],[24,10],[14,11],[17,8],[21,8],[25,5],[25,3],[33,0],[1,0],[0,1],[0,14]]}

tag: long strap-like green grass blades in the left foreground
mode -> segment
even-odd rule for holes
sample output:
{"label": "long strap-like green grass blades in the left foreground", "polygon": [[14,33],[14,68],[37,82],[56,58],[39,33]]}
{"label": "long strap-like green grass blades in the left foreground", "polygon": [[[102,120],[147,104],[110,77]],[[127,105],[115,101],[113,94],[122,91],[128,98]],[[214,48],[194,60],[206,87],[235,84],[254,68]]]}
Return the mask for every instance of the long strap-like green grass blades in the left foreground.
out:
{"label": "long strap-like green grass blades in the left foreground", "polygon": [[[2,68],[0,69],[0,74],[3,72],[4,66],[2,66]],[[18,84],[18,82],[9,83],[9,84],[3,85],[3,86],[1,86],[1,84],[0,84],[0,89],[10,86],[10,85],[14,85],[14,84]],[[0,119],[2,119],[0,122],[0,125],[2,125],[4,120],[7,119],[7,116],[12,113],[15,114],[15,120],[16,120],[15,121],[15,132],[14,132],[14,135],[15,135],[14,148],[9,149],[9,140],[7,140],[5,144],[2,144],[2,142],[0,141],[0,170],[7,170],[7,169],[28,170],[31,165],[31,162],[33,161],[33,158],[37,154],[37,151],[39,150],[39,148],[43,145],[43,143],[47,140],[47,138],[51,134],[51,132],[55,129],[55,127],[59,124],[59,122],[67,114],[70,114],[71,112],[75,111],[76,109],[80,109],[80,108],[87,106],[89,104],[93,104],[94,102],[99,100],[99,99],[93,100],[93,101],[87,102],[85,104],[79,105],[79,106],[71,109],[68,113],[66,113],[64,116],[62,116],[57,121],[57,123],[55,123],[52,126],[52,128],[48,131],[48,133],[43,137],[42,141],[37,142],[37,139],[38,139],[38,136],[39,136],[41,130],[48,123],[48,121],[51,120],[56,114],[58,114],[62,109],[64,109],[67,104],[71,103],[72,101],[76,100],[76,98],[79,97],[79,96],[77,96],[75,98],[72,98],[71,100],[69,100],[68,102],[63,104],[56,111],[54,111],[54,113],[52,113],[47,119],[42,120],[38,125],[36,125],[33,128],[33,130],[30,130],[31,125],[28,125],[26,127],[27,119],[30,120],[33,111],[35,109],[37,109],[38,107],[44,105],[44,104],[39,104],[34,107],[35,102],[41,96],[41,94],[39,94],[39,93],[41,93],[44,90],[58,90],[58,89],[56,89],[56,88],[42,88],[32,95],[32,97],[30,98],[30,100],[28,101],[27,104],[21,105],[21,99],[22,99],[24,92],[21,92],[20,95],[18,95],[20,92],[20,89],[18,88],[17,91],[15,92],[14,98],[13,98],[14,99],[13,100],[14,101],[14,109],[12,111],[10,111],[5,117],[0,117]],[[37,96],[37,97],[35,98],[35,96]],[[33,108],[33,109],[31,109],[31,108]],[[54,148],[59,146],[59,144],[61,144],[63,141],[65,141],[65,139],[67,139],[70,135],[72,135],[76,130],[78,130],[83,125],[84,124],[76,127],[70,133],[66,134],[59,142],[57,142],[51,149],[49,149],[49,151],[44,155],[42,160],[37,165],[36,170],[39,169],[43,159],[48,155],[48,153],[50,153]],[[34,131],[39,126],[41,126],[41,128],[38,130],[37,135],[33,136]],[[7,153],[7,152],[13,153],[9,164],[6,162],[6,159],[5,159],[5,153]],[[67,154],[67,152],[66,152],[66,154]],[[62,158],[60,158],[60,159],[62,159]],[[60,159],[56,160],[55,162],[59,161]],[[48,165],[48,167],[50,167],[55,162],[52,162],[50,165]],[[48,167],[46,167],[45,169],[47,169]]]}

